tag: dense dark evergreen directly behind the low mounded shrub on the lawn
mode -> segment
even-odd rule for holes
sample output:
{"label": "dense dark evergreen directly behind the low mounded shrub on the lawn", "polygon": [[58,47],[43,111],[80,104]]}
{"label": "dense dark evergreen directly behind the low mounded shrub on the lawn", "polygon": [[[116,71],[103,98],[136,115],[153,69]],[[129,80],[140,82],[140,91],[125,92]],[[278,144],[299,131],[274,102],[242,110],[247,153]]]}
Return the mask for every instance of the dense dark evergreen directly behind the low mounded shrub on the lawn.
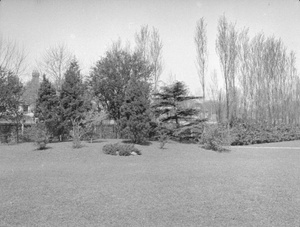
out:
{"label": "dense dark evergreen directly behind the low mounded shrub on the lawn", "polygon": [[150,130],[150,86],[132,77],[128,83],[119,121],[122,133],[134,143],[143,143]]}

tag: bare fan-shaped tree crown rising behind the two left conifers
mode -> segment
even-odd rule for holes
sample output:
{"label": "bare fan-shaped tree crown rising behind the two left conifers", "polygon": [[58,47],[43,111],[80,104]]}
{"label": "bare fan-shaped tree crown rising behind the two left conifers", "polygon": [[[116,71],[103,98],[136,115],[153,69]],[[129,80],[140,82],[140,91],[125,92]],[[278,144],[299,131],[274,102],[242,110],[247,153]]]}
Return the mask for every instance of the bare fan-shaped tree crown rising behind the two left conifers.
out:
{"label": "bare fan-shaped tree crown rising behind the two left conifers", "polygon": [[64,73],[68,69],[74,56],[64,44],[50,47],[43,55],[42,61],[38,63],[40,71],[49,76],[56,90],[60,90],[64,81]]}

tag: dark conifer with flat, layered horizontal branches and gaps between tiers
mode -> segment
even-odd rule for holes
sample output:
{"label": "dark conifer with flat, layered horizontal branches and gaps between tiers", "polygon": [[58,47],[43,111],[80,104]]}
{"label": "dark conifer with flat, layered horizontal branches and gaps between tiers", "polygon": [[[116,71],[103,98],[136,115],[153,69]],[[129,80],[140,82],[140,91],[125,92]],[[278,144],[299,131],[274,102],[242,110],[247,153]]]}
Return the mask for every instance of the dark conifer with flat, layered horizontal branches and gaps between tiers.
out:
{"label": "dark conifer with flat, layered horizontal branches and gaps between tiers", "polygon": [[175,82],[170,86],[162,87],[162,91],[154,94],[152,108],[156,116],[160,116],[162,122],[175,123],[179,128],[182,122],[194,121],[198,113],[195,108],[186,108],[184,101],[199,99],[202,97],[188,96],[188,90],[183,82]]}

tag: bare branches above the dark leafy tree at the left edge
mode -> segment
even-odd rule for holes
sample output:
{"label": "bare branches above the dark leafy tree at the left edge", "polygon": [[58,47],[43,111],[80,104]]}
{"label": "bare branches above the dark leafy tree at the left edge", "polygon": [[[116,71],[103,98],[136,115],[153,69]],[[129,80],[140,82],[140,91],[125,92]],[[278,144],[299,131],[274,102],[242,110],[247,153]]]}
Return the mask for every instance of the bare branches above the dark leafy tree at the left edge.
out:
{"label": "bare branches above the dark leafy tree at the left edge", "polygon": [[25,60],[24,49],[20,49],[16,42],[4,39],[0,35],[0,67],[20,75],[26,70]]}

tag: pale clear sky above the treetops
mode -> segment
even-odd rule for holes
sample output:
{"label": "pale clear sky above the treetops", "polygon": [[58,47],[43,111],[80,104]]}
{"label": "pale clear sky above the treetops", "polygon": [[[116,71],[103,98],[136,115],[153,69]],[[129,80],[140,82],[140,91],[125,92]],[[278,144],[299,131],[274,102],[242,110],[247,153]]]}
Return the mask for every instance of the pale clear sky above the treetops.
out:
{"label": "pale clear sky above the treetops", "polygon": [[249,28],[281,38],[288,51],[295,51],[300,70],[299,0],[0,0],[0,34],[14,40],[27,53],[31,77],[45,50],[64,43],[88,75],[111,44],[122,40],[134,46],[134,34],[142,25],[159,30],[163,41],[164,82],[184,81],[191,93],[200,92],[194,43],[196,22],[207,23],[209,77],[217,70],[215,51],[217,23],[225,15],[237,29]]}

